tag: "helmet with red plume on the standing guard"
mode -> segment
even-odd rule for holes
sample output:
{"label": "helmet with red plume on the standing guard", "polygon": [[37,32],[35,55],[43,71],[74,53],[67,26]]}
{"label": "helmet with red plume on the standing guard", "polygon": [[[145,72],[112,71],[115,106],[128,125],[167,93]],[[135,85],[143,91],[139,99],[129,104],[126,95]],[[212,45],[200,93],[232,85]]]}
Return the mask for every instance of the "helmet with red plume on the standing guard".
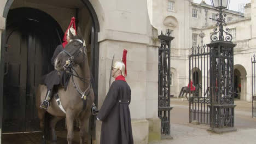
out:
{"label": "helmet with red plume on the standing guard", "polygon": [[126,55],[127,55],[127,50],[124,49],[123,51],[123,58],[122,61],[117,61],[113,65],[113,69],[120,69],[122,75],[125,77],[127,75],[127,68],[126,68]]}

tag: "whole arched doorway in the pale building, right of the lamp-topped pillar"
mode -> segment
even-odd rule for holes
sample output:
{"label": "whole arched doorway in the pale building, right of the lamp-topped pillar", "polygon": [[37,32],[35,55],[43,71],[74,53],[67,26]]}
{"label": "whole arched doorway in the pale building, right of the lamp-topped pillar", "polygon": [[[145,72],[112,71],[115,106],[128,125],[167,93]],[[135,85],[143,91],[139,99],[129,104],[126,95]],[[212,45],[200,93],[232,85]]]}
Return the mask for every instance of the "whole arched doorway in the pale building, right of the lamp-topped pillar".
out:
{"label": "whole arched doorway in the pale building, right of the lamp-topped pillar", "polygon": [[234,65],[234,97],[240,100],[246,100],[247,77],[246,69],[240,64]]}

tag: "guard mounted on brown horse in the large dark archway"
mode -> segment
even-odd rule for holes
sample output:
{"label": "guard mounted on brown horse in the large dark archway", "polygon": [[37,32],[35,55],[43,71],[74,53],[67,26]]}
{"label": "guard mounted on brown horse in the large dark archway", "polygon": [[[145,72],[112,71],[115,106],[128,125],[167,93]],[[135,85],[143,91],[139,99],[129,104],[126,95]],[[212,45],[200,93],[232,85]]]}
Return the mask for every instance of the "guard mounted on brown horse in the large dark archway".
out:
{"label": "guard mounted on brown horse in the large dark archway", "polygon": [[[74,121],[78,119],[80,143],[85,143],[86,134],[89,134],[89,118],[97,110],[94,106],[95,93],[91,85],[88,53],[80,29],[75,29],[74,17],[64,40],[62,45],[57,46],[52,58],[55,70],[46,75],[43,85],[40,84],[37,88],[36,106],[40,128],[44,129],[45,122],[49,121],[51,139],[56,144],[55,125],[66,118],[67,141],[72,144]],[[68,83],[73,85],[67,85]],[[45,119],[46,112],[53,117]]]}

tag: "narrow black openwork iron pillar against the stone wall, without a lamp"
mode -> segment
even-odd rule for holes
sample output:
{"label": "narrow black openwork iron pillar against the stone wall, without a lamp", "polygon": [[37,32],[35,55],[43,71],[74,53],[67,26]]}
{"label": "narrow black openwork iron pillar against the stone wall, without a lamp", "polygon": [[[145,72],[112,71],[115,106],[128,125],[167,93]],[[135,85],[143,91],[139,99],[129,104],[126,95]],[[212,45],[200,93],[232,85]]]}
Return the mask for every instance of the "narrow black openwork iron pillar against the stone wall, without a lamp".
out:
{"label": "narrow black openwork iron pillar against the stone wall, without a lamp", "polygon": [[170,135],[170,73],[171,57],[170,44],[173,37],[169,29],[166,35],[161,32],[158,38],[161,40],[159,47],[158,65],[158,117],[161,119],[161,134]]}

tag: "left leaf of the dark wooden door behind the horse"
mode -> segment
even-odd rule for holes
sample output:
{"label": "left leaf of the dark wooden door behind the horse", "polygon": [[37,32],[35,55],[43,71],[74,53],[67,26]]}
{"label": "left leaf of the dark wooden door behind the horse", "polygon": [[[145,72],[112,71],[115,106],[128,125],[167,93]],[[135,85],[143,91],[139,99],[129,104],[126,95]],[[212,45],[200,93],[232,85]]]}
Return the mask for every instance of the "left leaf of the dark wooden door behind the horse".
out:
{"label": "left leaf of the dark wooden door behind the horse", "polygon": [[9,40],[4,76],[3,130],[24,131],[27,87],[27,34],[20,29],[7,30]]}

